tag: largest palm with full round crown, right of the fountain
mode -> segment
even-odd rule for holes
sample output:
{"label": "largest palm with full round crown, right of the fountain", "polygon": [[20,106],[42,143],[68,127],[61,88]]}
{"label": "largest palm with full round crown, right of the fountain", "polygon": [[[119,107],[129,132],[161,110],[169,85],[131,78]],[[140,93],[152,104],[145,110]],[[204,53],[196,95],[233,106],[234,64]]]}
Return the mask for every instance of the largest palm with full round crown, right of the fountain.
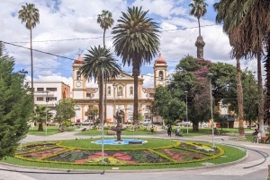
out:
{"label": "largest palm with full round crown, right of the fountain", "polygon": [[134,76],[134,110],[133,124],[138,125],[138,76],[141,64],[150,63],[158,53],[159,36],[157,22],[147,18],[148,11],[141,7],[128,7],[128,13],[123,13],[119,24],[112,28],[113,46],[117,56],[121,56],[123,64],[132,64]]}

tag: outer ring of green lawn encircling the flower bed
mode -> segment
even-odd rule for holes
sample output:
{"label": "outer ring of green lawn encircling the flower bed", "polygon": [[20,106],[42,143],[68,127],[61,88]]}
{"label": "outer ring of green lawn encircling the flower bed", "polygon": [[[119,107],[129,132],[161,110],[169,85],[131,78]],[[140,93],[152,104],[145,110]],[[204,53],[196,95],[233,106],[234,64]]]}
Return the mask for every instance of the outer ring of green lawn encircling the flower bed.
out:
{"label": "outer ring of green lawn encircling the flower bed", "polygon": [[[151,141],[150,139],[148,141]],[[72,143],[73,141],[66,141],[66,143]],[[157,141],[153,139],[152,144],[160,144],[161,141]],[[162,142],[165,145],[168,141]],[[77,142],[76,142],[77,143]],[[80,143],[80,142],[79,142]],[[79,145],[79,143],[77,145]],[[174,143],[174,142],[173,142]],[[206,143],[207,144],[207,143]],[[76,146],[77,146],[76,145]],[[94,145],[94,144],[92,144]],[[238,159],[242,159],[246,156],[246,150],[238,150],[237,148],[219,145],[225,151],[224,156],[218,159],[212,159],[203,161],[204,163],[212,163],[212,164],[222,164],[233,162]],[[123,147],[123,146],[116,146],[116,147]],[[135,147],[135,146],[134,146]],[[141,146],[140,146],[141,147]],[[85,170],[110,170],[112,166],[85,166],[85,165],[61,165],[61,164],[53,164],[53,163],[40,163],[40,162],[29,162],[22,159],[14,159],[12,157],[7,157],[6,159],[2,160],[4,163],[20,165],[20,166],[27,166],[27,167],[48,167],[48,168],[60,168],[60,169],[85,169]],[[203,167],[203,162],[193,162],[187,164],[177,164],[177,165],[155,165],[155,166],[124,166],[120,167],[120,170],[145,170],[145,169],[165,169],[165,168],[183,168],[183,167]],[[117,167],[117,166],[116,166]]]}

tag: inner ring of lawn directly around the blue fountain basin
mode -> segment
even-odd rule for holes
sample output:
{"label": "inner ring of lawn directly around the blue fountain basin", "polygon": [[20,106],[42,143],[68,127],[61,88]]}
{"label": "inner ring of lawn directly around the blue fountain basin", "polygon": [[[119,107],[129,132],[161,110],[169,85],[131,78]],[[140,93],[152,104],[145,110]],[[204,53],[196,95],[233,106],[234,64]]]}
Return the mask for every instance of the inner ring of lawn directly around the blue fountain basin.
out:
{"label": "inner ring of lawn directly around the blue fountain basin", "polygon": [[[130,138],[129,139],[139,139],[139,138]],[[92,148],[92,149],[101,149],[101,144],[94,144],[91,143],[91,141],[97,141],[101,140],[100,138],[94,138],[94,139],[83,139],[83,140],[66,140],[61,143],[63,146],[68,147],[75,147],[75,148]],[[148,148],[157,148],[157,147],[164,147],[164,146],[170,146],[174,145],[175,141],[169,141],[169,140],[162,140],[162,139],[147,139],[143,138],[143,140],[148,141],[147,143],[143,143],[139,146],[134,145],[104,145],[104,149],[111,149],[111,150],[127,150],[127,149],[148,149]]]}

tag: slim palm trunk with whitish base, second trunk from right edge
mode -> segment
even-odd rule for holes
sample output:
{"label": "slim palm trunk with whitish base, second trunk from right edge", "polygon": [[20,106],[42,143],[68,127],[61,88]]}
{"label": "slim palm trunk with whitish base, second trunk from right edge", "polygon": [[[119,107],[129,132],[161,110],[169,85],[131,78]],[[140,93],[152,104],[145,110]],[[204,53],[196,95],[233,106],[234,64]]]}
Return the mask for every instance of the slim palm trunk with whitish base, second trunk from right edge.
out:
{"label": "slim palm trunk with whitish base, second trunk from right edge", "polygon": [[260,124],[259,132],[262,134],[262,136],[266,136],[264,131],[264,105],[263,105],[261,53],[257,54],[257,90],[258,90],[258,120]]}

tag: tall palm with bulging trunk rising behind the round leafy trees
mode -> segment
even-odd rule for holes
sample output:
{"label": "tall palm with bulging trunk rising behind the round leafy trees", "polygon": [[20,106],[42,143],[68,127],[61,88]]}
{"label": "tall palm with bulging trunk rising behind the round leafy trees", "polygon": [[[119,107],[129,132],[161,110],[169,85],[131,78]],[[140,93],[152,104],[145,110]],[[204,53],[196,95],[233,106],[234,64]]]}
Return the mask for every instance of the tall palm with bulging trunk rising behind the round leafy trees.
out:
{"label": "tall palm with bulging trunk rising behind the round leafy trees", "polygon": [[205,43],[201,36],[201,23],[200,18],[205,15],[207,12],[206,4],[204,0],[193,0],[193,3],[189,4],[189,6],[192,8],[189,12],[190,15],[193,15],[197,18],[198,24],[199,24],[199,37],[197,38],[195,42],[195,46],[197,47],[197,58],[202,59],[203,58],[203,47],[205,46]]}

